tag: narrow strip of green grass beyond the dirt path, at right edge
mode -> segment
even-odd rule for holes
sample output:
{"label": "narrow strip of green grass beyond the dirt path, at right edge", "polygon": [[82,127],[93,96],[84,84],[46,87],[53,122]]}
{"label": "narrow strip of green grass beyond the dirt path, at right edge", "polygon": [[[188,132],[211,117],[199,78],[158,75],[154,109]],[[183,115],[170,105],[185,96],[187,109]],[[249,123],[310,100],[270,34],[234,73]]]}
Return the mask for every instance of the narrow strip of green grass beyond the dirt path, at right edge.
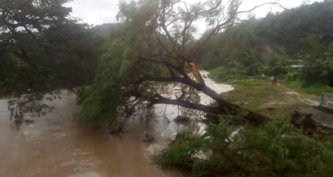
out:
{"label": "narrow strip of green grass beyond the dirt path, at right edge", "polygon": [[283,84],[287,85],[292,89],[303,91],[309,94],[320,95],[320,93],[322,92],[333,93],[333,87],[329,87],[328,85],[325,84],[313,84],[311,86],[302,86],[301,82],[299,81],[292,81],[292,82],[283,81]]}

